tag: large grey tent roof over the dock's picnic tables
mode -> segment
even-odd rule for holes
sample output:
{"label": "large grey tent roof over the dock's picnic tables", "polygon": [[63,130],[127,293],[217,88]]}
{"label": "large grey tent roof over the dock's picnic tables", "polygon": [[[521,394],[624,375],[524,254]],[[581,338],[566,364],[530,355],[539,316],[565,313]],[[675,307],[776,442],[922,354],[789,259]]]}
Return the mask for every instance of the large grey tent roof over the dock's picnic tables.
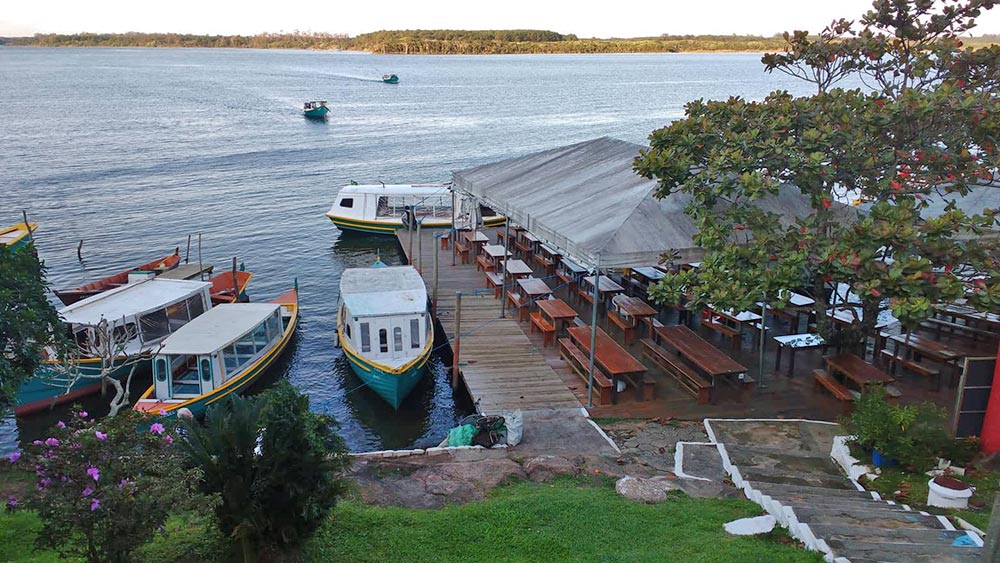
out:
{"label": "large grey tent roof over the dock's picnic tables", "polygon": [[[459,170],[452,186],[590,267],[649,266],[668,250],[684,261],[700,260],[704,251],[692,242],[695,224],[684,213],[691,197],[653,197],[657,182],[632,168],[643,148],[601,137]],[[793,186],[758,205],[788,224],[811,211]],[[838,209],[854,214],[844,205]]]}

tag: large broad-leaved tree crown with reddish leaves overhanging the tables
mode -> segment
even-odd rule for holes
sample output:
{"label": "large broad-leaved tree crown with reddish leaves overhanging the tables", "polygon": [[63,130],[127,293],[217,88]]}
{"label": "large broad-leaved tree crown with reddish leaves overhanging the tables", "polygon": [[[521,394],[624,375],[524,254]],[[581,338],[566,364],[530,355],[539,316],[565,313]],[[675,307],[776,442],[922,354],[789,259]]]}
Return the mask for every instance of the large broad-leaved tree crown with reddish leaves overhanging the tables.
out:
{"label": "large broad-leaved tree crown with reddish leaves overhanging the tables", "polygon": [[[654,131],[636,170],[659,181],[659,197],[692,196],[707,252],[701,268],[666,278],[654,297],[686,291],[695,305],[743,310],[765,293],[783,307],[783,290],[804,288],[819,332],[832,338],[825,312],[837,299],[832,284],[843,282],[860,301],[850,308],[855,329],[837,333],[847,343],[874,335],[885,307],[913,328],[967,291],[976,307],[1000,305],[997,244],[983,238],[996,210],[969,215],[950,204],[922,215],[928,197],[960,199],[997,172],[1000,50],[963,50],[957,37],[996,2],[876,0],[860,26],[785,34],[785,52],[765,55],[766,69],[811,82],[816,94],[698,100]],[[865,88],[836,86],[848,78]],[[754,205],[788,184],[812,208],[791,224]],[[847,219],[837,202],[870,208]]]}

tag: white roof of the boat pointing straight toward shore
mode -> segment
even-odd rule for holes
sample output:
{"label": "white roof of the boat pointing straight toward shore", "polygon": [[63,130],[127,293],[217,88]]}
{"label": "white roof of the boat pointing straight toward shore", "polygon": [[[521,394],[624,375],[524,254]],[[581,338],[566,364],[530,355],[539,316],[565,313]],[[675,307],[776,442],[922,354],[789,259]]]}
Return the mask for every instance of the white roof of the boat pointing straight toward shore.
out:
{"label": "white roof of the boat pointing straight toward shore", "polygon": [[427,312],[427,288],[412,266],[344,270],[340,298],[352,317]]}

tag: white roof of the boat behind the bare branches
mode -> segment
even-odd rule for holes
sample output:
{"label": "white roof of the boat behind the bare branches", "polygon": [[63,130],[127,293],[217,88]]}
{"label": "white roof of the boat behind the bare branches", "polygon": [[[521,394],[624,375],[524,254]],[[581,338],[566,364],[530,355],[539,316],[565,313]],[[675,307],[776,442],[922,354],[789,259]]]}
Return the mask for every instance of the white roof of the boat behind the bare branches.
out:
{"label": "white roof of the boat behind the bare branches", "polygon": [[125,284],[77,301],[59,310],[70,324],[96,325],[101,319],[114,321],[162,309],[211,287],[210,282],[149,279]]}

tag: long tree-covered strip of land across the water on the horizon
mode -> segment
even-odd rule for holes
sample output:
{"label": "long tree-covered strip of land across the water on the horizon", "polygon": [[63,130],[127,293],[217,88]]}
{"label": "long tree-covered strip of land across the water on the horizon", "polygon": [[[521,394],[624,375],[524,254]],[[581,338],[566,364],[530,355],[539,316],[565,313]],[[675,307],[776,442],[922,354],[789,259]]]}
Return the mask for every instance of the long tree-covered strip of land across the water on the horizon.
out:
{"label": "long tree-covered strip of land across the water on the horizon", "polygon": [[6,45],[38,47],[221,47],[245,49],[337,49],[379,54],[458,55],[531,53],[674,53],[769,51],[781,36],[662,35],[630,39],[580,39],[545,30],[400,30],[356,37],[329,33],[187,35],[180,33],[36,34],[0,39]]}

